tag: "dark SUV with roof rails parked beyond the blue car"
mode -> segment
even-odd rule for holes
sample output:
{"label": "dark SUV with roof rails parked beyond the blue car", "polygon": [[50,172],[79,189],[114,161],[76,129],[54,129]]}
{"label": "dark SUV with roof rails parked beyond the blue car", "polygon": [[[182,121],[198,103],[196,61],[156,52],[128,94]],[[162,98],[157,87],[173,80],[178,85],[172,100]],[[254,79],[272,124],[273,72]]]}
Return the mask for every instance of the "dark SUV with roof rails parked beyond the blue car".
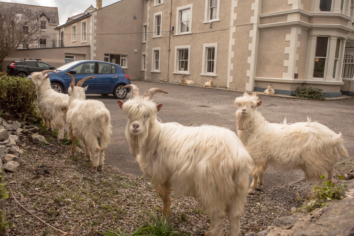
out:
{"label": "dark SUV with roof rails parked beyond the blue car", "polygon": [[42,71],[42,70],[52,70],[55,67],[50,64],[40,62],[41,59],[20,59],[19,61],[12,61],[11,64],[7,65],[7,74],[26,77],[32,72]]}

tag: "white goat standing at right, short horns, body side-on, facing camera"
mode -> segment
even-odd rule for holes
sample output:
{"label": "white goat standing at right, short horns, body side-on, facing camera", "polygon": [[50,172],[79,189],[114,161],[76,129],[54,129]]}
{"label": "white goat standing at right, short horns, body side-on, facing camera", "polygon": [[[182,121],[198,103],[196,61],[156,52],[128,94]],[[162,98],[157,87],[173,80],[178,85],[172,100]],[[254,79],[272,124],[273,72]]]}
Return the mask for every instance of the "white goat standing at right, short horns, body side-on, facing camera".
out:
{"label": "white goat standing at right, short horns, body side-on, facing camera", "polygon": [[234,99],[239,107],[236,111],[236,127],[239,138],[249,151],[255,166],[249,194],[263,185],[263,173],[269,165],[277,169],[301,169],[305,178],[320,185],[320,175],[332,179],[339,155],[349,157],[343,146],[341,133],[336,134],[317,122],[293,124],[269,123],[257,107],[261,97],[244,93]]}

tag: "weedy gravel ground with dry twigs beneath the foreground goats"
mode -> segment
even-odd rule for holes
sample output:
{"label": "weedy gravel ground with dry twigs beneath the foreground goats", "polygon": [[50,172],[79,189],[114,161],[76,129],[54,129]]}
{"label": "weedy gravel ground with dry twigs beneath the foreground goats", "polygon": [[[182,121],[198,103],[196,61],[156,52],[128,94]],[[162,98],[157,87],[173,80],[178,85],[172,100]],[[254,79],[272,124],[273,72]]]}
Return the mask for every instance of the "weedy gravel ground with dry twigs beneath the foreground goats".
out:
{"label": "weedy gravel ground with dry twigs beneath the foreground goats", "polygon": [[[52,146],[34,144],[29,137],[19,143],[24,150],[21,158],[28,165],[18,172],[6,173],[11,192],[6,203],[7,221],[14,226],[10,235],[101,235],[99,232],[118,228],[126,228],[130,233],[151,221],[148,213],[161,214],[162,201],[144,176],[119,173],[109,166],[92,174],[84,151],[69,157],[69,145],[56,144],[55,137],[45,136],[51,139]],[[335,174],[347,173],[352,168],[353,159],[338,165]],[[301,181],[247,196],[241,235],[259,232],[277,217],[291,215],[291,207],[301,206],[295,199],[296,192],[305,196],[310,188],[309,182]],[[192,235],[204,235],[210,220],[194,199],[174,194],[171,198],[172,223]],[[222,234],[228,235],[228,231],[225,220]]]}

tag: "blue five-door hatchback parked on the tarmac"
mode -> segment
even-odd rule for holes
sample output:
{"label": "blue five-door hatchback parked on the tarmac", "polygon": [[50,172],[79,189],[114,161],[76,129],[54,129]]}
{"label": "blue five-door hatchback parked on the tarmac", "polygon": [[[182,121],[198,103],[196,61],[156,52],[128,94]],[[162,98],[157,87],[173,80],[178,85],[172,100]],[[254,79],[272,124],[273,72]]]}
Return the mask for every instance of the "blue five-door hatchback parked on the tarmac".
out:
{"label": "blue five-door hatchback parked on the tarmac", "polygon": [[89,86],[86,90],[87,94],[113,94],[117,99],[124,99],[130,91],[129,88],[124,88],[124,86],[131,84],[129,76],[124,73],[122,67],[118,64],[82,60],[69,62],[54,69],[54,71],[58,74],[48,74],[51,86],[57,92],[65,93],[68,91],[71,77],[65,75],[65,73],[74,75],[75,84],[87,76],[96,76],[86,80],[82,85],[82,87]]}

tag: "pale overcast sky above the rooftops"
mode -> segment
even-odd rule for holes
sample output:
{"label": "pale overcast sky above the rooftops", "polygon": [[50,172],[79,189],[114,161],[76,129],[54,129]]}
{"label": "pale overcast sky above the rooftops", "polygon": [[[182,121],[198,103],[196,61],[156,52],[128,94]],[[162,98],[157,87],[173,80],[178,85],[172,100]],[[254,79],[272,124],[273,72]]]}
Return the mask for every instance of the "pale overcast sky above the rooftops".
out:
{"label": "pale overcast sky above the rooftops", "polygon": [[[59,24],[64,24],[68,17],[83,13],[91,5],[96,7],[96,0],[0,0],[1,2],[13,2],[29,5],[58,7]],[[102,7],[120,0],[102,0]]]}

